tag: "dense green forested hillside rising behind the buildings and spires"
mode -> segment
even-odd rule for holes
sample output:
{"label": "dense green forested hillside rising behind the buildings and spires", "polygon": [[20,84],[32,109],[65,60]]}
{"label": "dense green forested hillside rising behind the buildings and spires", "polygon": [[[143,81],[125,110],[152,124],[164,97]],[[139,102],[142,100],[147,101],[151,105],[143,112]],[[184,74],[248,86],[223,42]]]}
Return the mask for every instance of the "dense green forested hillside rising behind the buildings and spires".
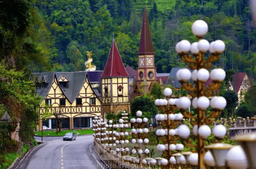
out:
{"label": "dense green forested hillside rising behind the buildings and spires", "polygon": [[256,31],[248,0],[36,0],[43,26],[37,28],[42,36],[37,49],[47,55],[51,71],[85,70],[86,51],[103,70],[114,33],[124,64],[136,68],[144,5],[158,73],[183,66],[174,47],[182,39],[197,40],[191,24],[198,19],[208,23],[205,39],[226,43],[217,66],[256,73]]}

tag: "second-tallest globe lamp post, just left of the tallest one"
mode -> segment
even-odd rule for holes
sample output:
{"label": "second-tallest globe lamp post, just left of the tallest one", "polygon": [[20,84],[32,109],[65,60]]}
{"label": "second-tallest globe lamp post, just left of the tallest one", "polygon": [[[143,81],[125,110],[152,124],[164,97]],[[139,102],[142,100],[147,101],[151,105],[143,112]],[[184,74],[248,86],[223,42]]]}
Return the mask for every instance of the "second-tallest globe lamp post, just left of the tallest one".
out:
{"label": "second-tallest globe lamp post, just left of the tallest one", "polygon": [[[157,114],[155,120],[159,123],[160,129],[156,130],[156,135],[163,141],[163,144],[158,144],[157,149],[163,151],[162,156],[164,158],[157,158],[156,162],[162,168],[173,167],[171,166],[171,160],[173,152],[180,152],[183,150],[184,145],[176,143],[179,140],[179,132],[177,126],[179,126],[183,120],[183,115],[181,113],[176,113],[177,105],[179,99],[170,98],[172,90],[170,88],[165,88],[163,90],[163,95],[166,99],[156,99],[155,105],[159,110],[162,110],[163,114]],[[184,134],[184,133],[182,133]]]}

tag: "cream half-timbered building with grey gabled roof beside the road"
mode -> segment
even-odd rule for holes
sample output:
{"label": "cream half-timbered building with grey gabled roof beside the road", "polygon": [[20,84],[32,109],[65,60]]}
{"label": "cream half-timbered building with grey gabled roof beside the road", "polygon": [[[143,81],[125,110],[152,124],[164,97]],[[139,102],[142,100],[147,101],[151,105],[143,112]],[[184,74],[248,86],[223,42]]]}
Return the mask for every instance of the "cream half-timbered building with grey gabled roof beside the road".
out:
{"label": "cream half-timbered building with grey gabled roof beside the road", "polygon": [[[56,128],[56,115],[62,120],[62,128],[90,128],[92,118],[101,115],[101,99],[93,90],[89,76],[91,72],[46,72],[34,73],[36,93],[42,97],[39,106],[38,130]],[[90,76],[99,81],[102,71]],[[95,79],[96,78],[96,79]],[[98,78],[98,80],[97,80]],[[42,120],[45,114],[47,120]],[[55,115],[55,116],[54,116]]]}

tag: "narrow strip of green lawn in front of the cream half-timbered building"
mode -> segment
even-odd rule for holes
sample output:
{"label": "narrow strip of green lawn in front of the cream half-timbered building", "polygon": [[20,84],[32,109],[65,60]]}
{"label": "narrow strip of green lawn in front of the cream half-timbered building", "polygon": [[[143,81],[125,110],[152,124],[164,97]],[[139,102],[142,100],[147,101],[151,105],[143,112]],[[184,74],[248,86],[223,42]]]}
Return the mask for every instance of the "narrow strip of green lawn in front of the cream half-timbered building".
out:
{"label": "narrow strip of green lawn in front of the cream half-timbered building", "polygon": [[[43,131],[43,136],[64,136],[66,133],[75,133],[79,135],[93,134],[92,129],[81,129],[81,130],[62,130],[62,132],[56,131]],[[42,132],[35,132],[35,136],[42,136]]]}

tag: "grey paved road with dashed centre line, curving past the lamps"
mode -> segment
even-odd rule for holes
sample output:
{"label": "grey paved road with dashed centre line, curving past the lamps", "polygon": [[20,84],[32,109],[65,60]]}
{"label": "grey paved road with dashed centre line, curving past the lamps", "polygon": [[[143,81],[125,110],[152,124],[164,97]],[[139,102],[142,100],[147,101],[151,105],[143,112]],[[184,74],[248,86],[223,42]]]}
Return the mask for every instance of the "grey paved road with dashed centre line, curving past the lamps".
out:
{"label": "grey paved road with dashed centre line, curving past the lamps", "polygon": [[19,169],[99,169],[90,151],[93,136],[77,136],[73,141],[63,141],[62,137],[44,140],[48,142],[21,161]]}

